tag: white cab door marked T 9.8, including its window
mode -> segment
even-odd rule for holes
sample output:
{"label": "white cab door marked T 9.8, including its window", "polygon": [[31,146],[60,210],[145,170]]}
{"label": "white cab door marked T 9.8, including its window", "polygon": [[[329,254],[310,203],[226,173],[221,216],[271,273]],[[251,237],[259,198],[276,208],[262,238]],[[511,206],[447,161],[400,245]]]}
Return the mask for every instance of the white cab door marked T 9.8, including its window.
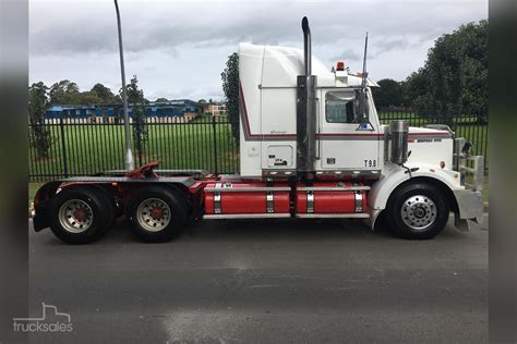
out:
{"label": "white cab door marked T 9.8, including its window", "polygon": [[371,97],[370,123],[359,123],[353,88],[321,89],[318,156],[322,170],[380,170],[378,121]]}

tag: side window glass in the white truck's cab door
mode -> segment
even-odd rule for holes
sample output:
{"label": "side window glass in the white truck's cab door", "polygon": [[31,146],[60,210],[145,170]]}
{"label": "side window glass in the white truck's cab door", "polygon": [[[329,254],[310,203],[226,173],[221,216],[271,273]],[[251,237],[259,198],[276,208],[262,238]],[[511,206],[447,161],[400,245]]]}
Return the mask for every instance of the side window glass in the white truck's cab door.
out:
{"label": "side window glass in the white truck's cab door", "polygon": [[353,93],[327,91],[325,95],[325,119],[327,123],[358,123]]}

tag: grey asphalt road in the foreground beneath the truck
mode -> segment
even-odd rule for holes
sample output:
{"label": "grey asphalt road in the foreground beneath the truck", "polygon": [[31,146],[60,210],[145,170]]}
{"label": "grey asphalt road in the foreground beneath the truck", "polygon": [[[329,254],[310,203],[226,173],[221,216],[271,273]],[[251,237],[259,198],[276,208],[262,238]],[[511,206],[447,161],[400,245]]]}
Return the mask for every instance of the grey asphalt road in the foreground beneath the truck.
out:
{"label": "grey asphalt road in the foreground beneath the truck", "polygon": [[35,342],[488,341],[488,229],[432,241],[361,222],[224,221],[143,244],[118,225],[69,246],[29,234],[31,314],[71,316]]}

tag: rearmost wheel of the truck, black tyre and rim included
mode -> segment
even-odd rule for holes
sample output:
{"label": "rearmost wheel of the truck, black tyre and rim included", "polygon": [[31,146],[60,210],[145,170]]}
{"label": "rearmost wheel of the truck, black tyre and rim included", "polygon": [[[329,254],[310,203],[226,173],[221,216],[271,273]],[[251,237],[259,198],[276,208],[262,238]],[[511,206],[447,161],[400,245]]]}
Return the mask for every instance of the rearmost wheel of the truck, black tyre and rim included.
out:
{"label": "rearmost wheel of the truck, black tyre and rim included", "polygon": [[56,195],[50,207],[50,230],[68,244],[97,239],[115,217],[108,198],[93,187],[65,188]]}

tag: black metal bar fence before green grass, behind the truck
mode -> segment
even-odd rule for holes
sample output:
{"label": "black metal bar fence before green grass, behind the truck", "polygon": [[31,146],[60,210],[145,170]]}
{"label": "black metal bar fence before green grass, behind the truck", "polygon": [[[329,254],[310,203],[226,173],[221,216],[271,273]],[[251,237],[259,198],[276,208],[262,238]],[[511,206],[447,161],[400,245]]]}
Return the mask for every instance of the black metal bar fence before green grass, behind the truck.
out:
{"label": "black metal bar fence before green grass, behind the truck", "polygon": [[[384,124],[392,120],[407,120],[412,126],[440,122],[421,118],[409,109],[378,109],[377,112]],[[457,135],[473,144],[476,155],[488,157],[486,116],[457,116],[449,124]],[[239,171],[238,143],[231,135],[226,116],[205,115],[190,122],[175,118],[149,118],[146,125],[147,140],[133,142],[137,167],[158,160],[160,169],[203,169],[214,173]],[[131,126],[134,130],[133,123]],[[29,124],[28,135],[31,182],[124,168],[123,123],[62,119]],[[48,140],[48,149],[38,149],[45,139]]]}

